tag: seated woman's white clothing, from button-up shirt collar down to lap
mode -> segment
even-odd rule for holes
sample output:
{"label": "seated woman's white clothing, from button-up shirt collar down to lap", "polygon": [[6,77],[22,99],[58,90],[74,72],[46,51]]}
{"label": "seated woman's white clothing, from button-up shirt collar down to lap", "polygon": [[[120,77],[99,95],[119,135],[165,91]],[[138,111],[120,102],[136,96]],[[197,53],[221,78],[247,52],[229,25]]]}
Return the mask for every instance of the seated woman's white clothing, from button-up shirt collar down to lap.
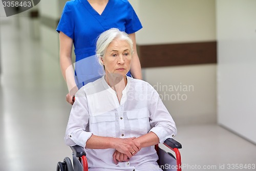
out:
{"label": "seated woman's white clothing, from button-up shirt collar down to lap", "polygon": [[[174,120],[157,91],[145,81],[127,77],[119,104],[116,92],[103,76],[76,93],[65,142],[69,146],[77,144],[84,147],[92,134],[130,138],[148,132],[154,132],[160,143],[173,138],[177,132]],[[117,165],[112,157],[114,152],[115,149],[86,149],[90,170],[144,170],[146,165],[150,166],[148,163],[157,165],[158,156],[153,146],[142,148],[129,162]]]}

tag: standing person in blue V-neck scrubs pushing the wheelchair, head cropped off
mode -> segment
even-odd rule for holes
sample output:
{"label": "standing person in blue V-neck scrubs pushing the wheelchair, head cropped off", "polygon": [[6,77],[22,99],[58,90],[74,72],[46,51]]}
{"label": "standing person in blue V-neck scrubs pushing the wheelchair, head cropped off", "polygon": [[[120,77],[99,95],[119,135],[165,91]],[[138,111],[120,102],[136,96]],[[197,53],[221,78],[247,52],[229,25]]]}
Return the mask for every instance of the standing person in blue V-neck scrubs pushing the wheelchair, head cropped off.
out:
{"label": "standing person in blue V-neck scrubs pushing the wheelchair, head cropped off", "polygon": [[[63,9],[57,32],[60,40],[60,67],[72,98],[79,88],[100,78],[102,66],[95,58],[97,37],[110,28],[118,28],[133,40],[134,55],[127,76],[142,79],[141,66],[136,51],[135,32],[142,28],[131,4],[125,0],[74,0]],[[75,52],[75,77],[72,65],[72,47]]]}

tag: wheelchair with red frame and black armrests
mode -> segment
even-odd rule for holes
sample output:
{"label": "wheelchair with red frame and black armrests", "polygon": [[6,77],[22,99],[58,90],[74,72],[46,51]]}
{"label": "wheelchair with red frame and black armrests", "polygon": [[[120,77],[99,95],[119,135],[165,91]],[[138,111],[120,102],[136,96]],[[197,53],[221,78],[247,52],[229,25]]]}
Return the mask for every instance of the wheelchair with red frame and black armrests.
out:
{"label": "wheelchair with red frame and black armrests", "polygon": [[[159,144],[155,145],[156,152],[158,154],[159,160],[158,165],[163,171],[177,170],[181,171],[181,156],[179,149],[182,145],[172,139],[166,139],[163,143],[168,149],[175,152],[176,158],[172,153],[165,152],[160,148]],[[57,163],[57,171],[88,171],[88,163],[86,158],[86,152],[81,146],[75,145],[70,146],[72,149],[73,165],[69,157],[64,158],[63,162]]]}

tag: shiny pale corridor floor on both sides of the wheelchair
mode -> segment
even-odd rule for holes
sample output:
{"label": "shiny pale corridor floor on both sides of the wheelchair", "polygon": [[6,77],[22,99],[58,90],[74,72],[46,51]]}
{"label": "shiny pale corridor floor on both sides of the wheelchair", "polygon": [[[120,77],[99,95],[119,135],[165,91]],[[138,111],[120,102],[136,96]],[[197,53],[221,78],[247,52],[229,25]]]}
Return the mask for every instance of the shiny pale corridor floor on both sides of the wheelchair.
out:
{"label": "shiny pale corridor floor on both sides of the wheelchair", "polygon": [[[9,24],[0,31],[0,170],[55,170],[71,157],[63,143],[71,106],[58,59]],[[248,168],[256,145],[217,125],[177,127],[183,170],[256,170]]]}

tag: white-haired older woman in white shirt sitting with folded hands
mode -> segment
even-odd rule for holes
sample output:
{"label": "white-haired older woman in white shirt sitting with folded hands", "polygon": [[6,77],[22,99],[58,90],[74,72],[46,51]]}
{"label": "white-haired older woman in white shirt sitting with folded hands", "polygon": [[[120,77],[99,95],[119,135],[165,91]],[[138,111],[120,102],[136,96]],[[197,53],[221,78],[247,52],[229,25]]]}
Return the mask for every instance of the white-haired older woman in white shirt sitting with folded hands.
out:
{"label": "white-haired older woman in white shirt sitting with folded hands", "polygon": [[90,171],[161,170],[155,144],[176,135],[172,116],[147,82],[126,77],[131,38],[118,29],[103,32],[96,54],[105,75],[76,93],[65,141],[86,149]]}

